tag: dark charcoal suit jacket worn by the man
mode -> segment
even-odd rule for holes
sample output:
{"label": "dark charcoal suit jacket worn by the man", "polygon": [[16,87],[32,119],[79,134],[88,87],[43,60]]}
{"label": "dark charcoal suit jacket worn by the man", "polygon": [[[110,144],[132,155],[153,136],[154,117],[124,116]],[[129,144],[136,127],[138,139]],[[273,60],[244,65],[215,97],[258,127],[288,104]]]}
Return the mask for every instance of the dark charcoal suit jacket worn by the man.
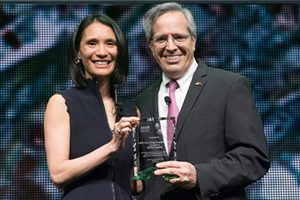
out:
{"label": "dark charcoal suit jacket worn by the man", "polygon": [[[142,117],[158,116],[160,83],[136,98]],[[245,186],[269,169],[263,125],[244,76],[199,61],[175,134],[177,160],[195,166],[198,185],[184,190],[154,176],[144,183],[147,200],[246,199]]]}

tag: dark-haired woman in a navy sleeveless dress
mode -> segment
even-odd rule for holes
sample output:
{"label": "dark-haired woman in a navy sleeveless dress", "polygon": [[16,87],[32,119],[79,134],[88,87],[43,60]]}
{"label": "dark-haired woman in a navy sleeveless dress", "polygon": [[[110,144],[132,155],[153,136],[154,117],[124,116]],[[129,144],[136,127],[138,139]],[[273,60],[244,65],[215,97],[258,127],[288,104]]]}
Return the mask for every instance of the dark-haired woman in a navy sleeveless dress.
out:
{"label": "dark-haired woman in a navy sleeveless dress", "polygon": [[53,183],[63,199],[131,199],[131,103],[116,106],[114,84],[128,73],[127,44],[118,25],[97,14],[73,36],[69,70],[75,87],[54,94],[45,111],[45,146]]}

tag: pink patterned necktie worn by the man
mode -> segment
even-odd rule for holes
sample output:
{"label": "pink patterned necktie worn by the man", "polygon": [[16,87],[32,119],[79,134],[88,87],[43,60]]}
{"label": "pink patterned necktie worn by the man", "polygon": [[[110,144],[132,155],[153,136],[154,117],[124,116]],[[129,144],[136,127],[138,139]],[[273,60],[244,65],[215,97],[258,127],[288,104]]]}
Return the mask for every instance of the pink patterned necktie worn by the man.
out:
{"label": "pink patterned necktie worn by the man", "polygon": [[[169,85],[169,97],[171,100],[171,103],[170,103],[169,109],[168,109],[168,117],[175,117],[175,124],[176,124],[179,109],[176,105],[175,90],[178,88],[178,83],[176,81],[170,81],[168,85]],[[173,142],[173,137],[174,137],[173,134],[174,134],[175,124],[173,124],[172,120],[167,120],[167,138],[168,138],[169,153],[170,153],[172,142]]]}

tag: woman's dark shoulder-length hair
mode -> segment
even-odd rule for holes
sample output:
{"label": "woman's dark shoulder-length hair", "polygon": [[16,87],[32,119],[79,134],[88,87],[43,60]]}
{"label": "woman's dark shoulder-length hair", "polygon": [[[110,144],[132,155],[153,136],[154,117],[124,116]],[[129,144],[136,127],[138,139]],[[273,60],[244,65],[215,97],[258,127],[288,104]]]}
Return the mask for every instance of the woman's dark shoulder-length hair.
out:
{"label": "woman's dark shoulder-length hair", "polygon": [[114,84],[123,83],[128,75],[128,47],[127,41],[125,40],[124,34],[121,31],[120,27],[113,19],[104,14],[88,15],[81,21],[81,23],[77,27],[77,30],[73,35],[72,43],[70,44],[68,52],[67,65],[70,71],[70,76],[75,86],[81,88],[86,87],[84,66],[82,65],[81,61],[76,62],[76,59],[77,53],[80,48],[82,34],[84,30],[93,22],[100,22],[101,24],[110,27],[113,30],[117,39],[118,57],[116,67],[110,79],[110,89],[113,89]]}

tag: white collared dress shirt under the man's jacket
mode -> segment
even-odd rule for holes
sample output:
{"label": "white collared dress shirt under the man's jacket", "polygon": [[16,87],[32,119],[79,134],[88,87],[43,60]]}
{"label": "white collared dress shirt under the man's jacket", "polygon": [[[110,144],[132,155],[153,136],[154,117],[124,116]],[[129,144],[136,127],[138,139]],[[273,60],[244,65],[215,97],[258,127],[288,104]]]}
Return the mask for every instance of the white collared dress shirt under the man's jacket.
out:
{"label": "white collared dress shirt under the man's jacket", "polygon": [[[179,88],[175,91],[175,99],[176,105],[179,109],[179,113],[181,107],[183,105],[185,96],[191,84],[194,72],[198,67],[198,63],[194,59],[191,67],[187,70],[187,72],[177,81]],[[170,79],[166,76],[165,73],[162,74],[162,82],[160,84],[159,92],[158,92],[158,114],[159,117],[167,117],[168,116],[168,105],[165,102],[165,96],[169,96],[169,88],[166,87],[166,84],[170,81]],[[165,120],[161,121],[161,129],[164,138],[165,148],[168,149],[167,144],[167,123]],[[167,150],[168,151],[168,150]],[[169,153],[169,152],[168,152]]]}

